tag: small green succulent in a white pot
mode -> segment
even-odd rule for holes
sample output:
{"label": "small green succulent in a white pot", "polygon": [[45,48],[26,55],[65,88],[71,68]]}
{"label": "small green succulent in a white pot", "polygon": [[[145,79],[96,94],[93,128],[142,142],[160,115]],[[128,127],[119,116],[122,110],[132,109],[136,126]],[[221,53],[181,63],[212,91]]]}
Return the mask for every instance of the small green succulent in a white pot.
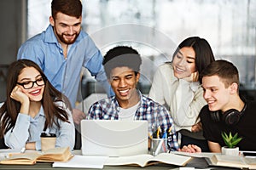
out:
{"label": "small green succulent in a white pot", "polygon": [[242,138],[238,138],[238,133],[236,133],[234,136],[232,133],[229,135],[227,133],[221,133],[222,138],[224,139],[224,143],[226,146],[221,148],[221,152],[224,155],[229,156],[238,156],[239,155],[239,147],[236,147],[236,144],[238,144]]}

